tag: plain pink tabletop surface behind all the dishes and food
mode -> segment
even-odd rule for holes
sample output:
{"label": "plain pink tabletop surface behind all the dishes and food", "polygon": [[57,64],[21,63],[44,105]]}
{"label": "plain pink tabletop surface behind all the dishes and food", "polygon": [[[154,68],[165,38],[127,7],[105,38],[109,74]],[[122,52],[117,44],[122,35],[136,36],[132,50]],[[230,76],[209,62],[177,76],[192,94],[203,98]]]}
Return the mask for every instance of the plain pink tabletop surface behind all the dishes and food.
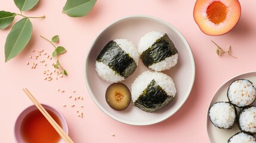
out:
{"label": "plain pink tabletop surface behind all the dishes and food", "polygon": [[[240,1],[242,15],[236,27],[222,36],[208,36],[201,32],[193,19],[195,0],[98,0],[92,11],[82,18],[62,14],[65,1],[40,1],[33,10],[24,15],[40,16],[31,19],[33,35],[29,45],[14,59],[4,63],[4,44],[10,27],[0,31],[0,136],[1,142],[14,142],[13,127],[21,111],[32,102],[21,90],[28,88],[36,98],[61,110],[69,125],[70,137],[75,142],[209,142],[206,133],[206,112],[212,95],[226,80],[240,73],[255,71],[256,19],[255,1]],[[19,13],[13,1],[1,0],[0,10]],[[92,101],[84,82],[84,60],[88,47],[98,33],[112,21],[128,15],[144,14],[160,18],[183,33],[192,48],[196,62],[196,79],[190,97],[173,116],[164,122],[150,126],[131,126],[119,123],[104,114]],[[17,21],[20,17],[16,17]],[[12,24],[13,25],[13,24]],[[39,64],[30,69],[35,55],[32,49],[44,49],[49,54],[53,47],[40,38],[60,36],[60,43],[68,52],[61,55],[60,62],[69,76],[44,80],[45,67]],[[227,50],[232,45],[232,54],[218,57],[215,41]],[[30,61],[29,66],[26,62]],[[48,62],[47,68],[54,60]],[[57,88],[65,92],[57,91]],[[73,94],[72,90],[76,93]],[[68,95],[82,96],[74,101]],[[67,107],[62,107],[67,104]],[[76,108],[70,104],[84,105],[83,118],[77,117]],[[114,133],[115,136],[111,134]]]}

